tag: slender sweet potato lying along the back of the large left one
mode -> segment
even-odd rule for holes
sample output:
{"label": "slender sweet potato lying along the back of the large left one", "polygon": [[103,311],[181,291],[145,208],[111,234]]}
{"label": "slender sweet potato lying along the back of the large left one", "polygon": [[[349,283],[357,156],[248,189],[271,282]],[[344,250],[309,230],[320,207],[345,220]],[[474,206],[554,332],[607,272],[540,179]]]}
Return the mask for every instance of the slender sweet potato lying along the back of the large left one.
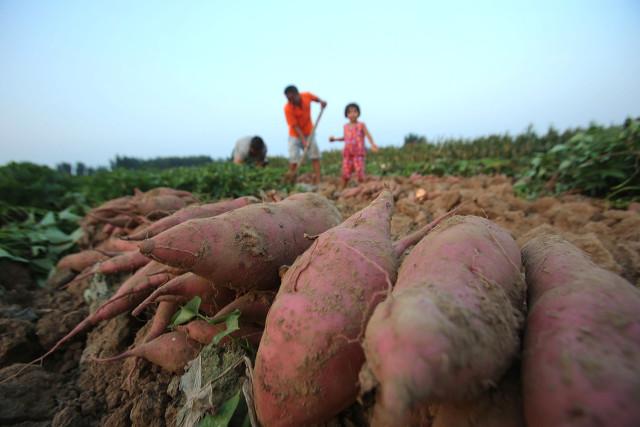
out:
{"label": "slender sweet potato lying along the back of the large left one", "polygon": [[255,197],[239,197],[234,200],[223,200],[216,203],[208,203],[205,205],[192,205],[180,209],[179,211],[162,218],[148,227],[126,236],[126,240],[144,240],[149,239],[159,233],[170,229],[173,226],[181,224],[190,219],[210,218],[222,213],[257,203],[259,200]]}

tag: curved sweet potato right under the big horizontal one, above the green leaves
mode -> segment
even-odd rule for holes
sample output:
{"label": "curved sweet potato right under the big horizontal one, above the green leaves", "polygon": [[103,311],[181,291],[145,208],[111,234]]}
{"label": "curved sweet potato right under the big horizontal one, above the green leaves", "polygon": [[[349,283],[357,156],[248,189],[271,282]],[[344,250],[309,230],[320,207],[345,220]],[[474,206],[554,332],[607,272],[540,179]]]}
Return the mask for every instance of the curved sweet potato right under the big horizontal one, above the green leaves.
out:
{"label": "curved sweet potato right under the big horizontal one, above the green leaves", "polygon": [[199,296],[201,298],[201,305],[207,308],[203,311],[205,311],[206,314],[210,314],[211,308],[213,308],[213,314],[215,314],[220,308],[233,301],[236,293],[222,286],[215,286],[210,280],[204,277],[193,273],[185,273],[171,279],[169,282],[154,290],[151,295],[133,310],[132,314],[137,316],[147,305],[157,301],[163,296],[175,296],[176,298],[165,298],[163,301],[170,300],[178,303],[185,303],[193,297]]}

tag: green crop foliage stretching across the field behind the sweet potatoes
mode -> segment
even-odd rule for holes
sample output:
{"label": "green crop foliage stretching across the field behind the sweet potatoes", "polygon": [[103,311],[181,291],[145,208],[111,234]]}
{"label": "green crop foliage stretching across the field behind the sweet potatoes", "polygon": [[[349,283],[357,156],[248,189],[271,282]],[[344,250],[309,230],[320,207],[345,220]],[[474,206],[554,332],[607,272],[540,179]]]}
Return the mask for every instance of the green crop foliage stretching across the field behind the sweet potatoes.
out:
{"label": "green crop foliage stretching across the field behind the sweet potatoes", "polygon": [[[251,168],[198,156],[184,161],[202,161],[201,166],[162,169],[171,159],[116,157],[112,166],[118,167],[112,171],[77,163],[75,175],[70,163],[61,163],[57,170],[33,163],[1,166],[0,257],[28,260],[41,277],[72,244],[71,237],[57,242],[56,236],[61,234],[52,231],[58,229],[71,236],[77,227],[65,219],[64,212],[82,216],[87,206],[131,195],[136,188],[172,187],[191,191],[202,201],[291,189],[282,180],[288,169],[285,157],[270,157],[268,167]],[[341,150],[324,152],[323,173],[340,176],[341,161]],[[127,163],[135,169],[119,167]],[[640,119],[627,119],[622,126],[591,125],[562,133],[550,128],[543,135],[529,127],[516,136],[489,135],[473,140],[431,142],[408,134],[402,148],[382,147],[378,153],[370,153],[366,167],[368,174],[378,176],[502,173],[517,179],[516,190],[524,196],[572,191],[624,204],[640,199]],[[306,162],[300,173],[310,170],[310,162]]]}

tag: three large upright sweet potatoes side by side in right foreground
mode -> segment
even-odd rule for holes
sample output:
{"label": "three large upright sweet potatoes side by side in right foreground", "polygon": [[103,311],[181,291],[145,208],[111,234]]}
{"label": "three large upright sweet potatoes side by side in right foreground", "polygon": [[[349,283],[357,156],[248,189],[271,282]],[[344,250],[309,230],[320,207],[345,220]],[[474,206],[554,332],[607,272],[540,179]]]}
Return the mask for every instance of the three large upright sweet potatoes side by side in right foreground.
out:
{"label": "three large upright sweet potatoes side by side in right foreground", "polygon": [[284,276],[253,378],[264,426],[322,423],[365,393],[375,426],[640,425],[637,288],[557,236],[521,252],[474,216],[398,268],[391,204],[383,191]]}

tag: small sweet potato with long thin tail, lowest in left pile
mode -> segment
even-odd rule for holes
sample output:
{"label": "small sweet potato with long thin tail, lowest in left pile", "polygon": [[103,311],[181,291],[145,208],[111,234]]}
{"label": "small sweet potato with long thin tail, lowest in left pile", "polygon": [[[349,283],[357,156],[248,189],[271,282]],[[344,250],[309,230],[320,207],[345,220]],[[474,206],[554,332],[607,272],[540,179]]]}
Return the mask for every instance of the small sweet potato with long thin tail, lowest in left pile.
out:
{"label": "small sweet potato with long thin tail, lowest in left pile", "polygon": [[185,365],[200,352],[201,345],[183,332],[174,331],[142,344],[113,357],[94,359],[95,362],[115,362],[127,357],[142,357],[167,371],[180,374]]}

